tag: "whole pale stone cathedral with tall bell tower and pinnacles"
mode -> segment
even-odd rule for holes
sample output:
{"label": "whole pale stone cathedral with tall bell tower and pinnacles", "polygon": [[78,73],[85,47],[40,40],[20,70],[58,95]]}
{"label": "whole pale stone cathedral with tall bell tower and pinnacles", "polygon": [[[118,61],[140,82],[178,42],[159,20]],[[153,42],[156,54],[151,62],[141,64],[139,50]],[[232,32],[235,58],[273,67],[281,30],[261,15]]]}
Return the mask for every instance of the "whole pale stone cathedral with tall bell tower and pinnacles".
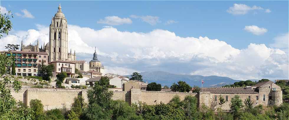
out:
{"label": "whole pale stone cathedral with tall bell tower and pinnacles", "polygon": [[49,26],[49,43],[41,48],[39,41],[37,40],[36,45],[23,45],[21,41],[21,51],[33,51],[33,52],[46,52],[48,53],[48,62],[61,60],[71,61],[76,60],[75,51],[74,53],[68,53],[68,29],[67,19],[61,11],[59,4],[58,11],[52,17],[51,24]]}

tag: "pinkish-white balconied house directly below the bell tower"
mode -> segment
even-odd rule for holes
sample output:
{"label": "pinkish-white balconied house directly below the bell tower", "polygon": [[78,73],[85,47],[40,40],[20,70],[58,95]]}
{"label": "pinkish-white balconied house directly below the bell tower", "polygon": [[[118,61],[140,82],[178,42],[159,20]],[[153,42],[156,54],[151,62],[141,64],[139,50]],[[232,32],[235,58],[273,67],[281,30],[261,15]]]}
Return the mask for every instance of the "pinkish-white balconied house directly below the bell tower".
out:
{"label": "pinkish-white balconied house directly below the bell tower", "polygon": [[74,77],[75,75],[75,63],[69,61],[56,60],[49,62],[54,66],[54,71],[52,72],[53,77],[60,74],[60,72],[66,72],[67,77]]}

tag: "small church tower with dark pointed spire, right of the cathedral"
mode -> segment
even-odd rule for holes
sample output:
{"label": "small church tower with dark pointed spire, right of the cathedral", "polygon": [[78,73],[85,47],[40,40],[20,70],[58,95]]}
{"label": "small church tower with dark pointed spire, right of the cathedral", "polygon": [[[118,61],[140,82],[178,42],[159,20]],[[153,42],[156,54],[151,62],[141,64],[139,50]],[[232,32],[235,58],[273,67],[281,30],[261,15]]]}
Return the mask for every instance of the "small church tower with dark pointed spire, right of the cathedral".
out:
{"label": "small church tower with dark pointed spire, right of the cathedral", "polygon": [[97,58],[96,48],[94,50],[92,60],[89,61],[89,70],[100,72],[102,73],[102,75],[104,73],[104,65],[102,65],[101,62]]}

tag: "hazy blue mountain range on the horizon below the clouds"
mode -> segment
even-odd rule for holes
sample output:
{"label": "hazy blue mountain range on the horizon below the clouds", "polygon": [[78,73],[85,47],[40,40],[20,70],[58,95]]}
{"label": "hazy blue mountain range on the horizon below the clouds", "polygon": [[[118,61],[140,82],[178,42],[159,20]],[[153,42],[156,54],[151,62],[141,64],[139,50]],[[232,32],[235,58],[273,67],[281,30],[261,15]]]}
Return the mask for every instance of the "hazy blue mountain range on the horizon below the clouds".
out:
{"label": "hazy blue mountain range on the horizon below the clouds", "polygon": [[[144,82],[156,82],[158,84],[162,84],[162,86],[167,85],[171,86],[174,82],[177,83],[178,81],[185,81],[191,87],[197,85],[199,87],[202,86],[201,80],[205,83],[203,87],[221,87],[226,84],[234,84],[234,82],[239,82],[240,80],[234,80],[229,77],[220,77],[220,76],[202,76],[202,75],[180,75],[180,74],[173,74],[169,72],[163,71],[153,71],[153,72],[141,72],[140,75],[143,77]],[[131,75],[125,75],[126,77],[131,77]]]}

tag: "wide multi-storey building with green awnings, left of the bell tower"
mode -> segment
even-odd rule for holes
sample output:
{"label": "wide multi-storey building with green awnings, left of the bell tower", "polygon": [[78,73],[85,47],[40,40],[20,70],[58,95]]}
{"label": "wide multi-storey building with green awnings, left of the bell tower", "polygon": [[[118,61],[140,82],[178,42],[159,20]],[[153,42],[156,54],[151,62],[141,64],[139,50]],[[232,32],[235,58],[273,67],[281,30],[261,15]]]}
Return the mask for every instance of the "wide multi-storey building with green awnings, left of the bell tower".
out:
{"label": "wide multi-storey building with green awnings, left of the bell tower", "polygon": [[16,75],[21,76],[38,76],[41,60],[48,64],[48,53],[33,51],[1,51],[7,56],[13,55],[15,61]]}

